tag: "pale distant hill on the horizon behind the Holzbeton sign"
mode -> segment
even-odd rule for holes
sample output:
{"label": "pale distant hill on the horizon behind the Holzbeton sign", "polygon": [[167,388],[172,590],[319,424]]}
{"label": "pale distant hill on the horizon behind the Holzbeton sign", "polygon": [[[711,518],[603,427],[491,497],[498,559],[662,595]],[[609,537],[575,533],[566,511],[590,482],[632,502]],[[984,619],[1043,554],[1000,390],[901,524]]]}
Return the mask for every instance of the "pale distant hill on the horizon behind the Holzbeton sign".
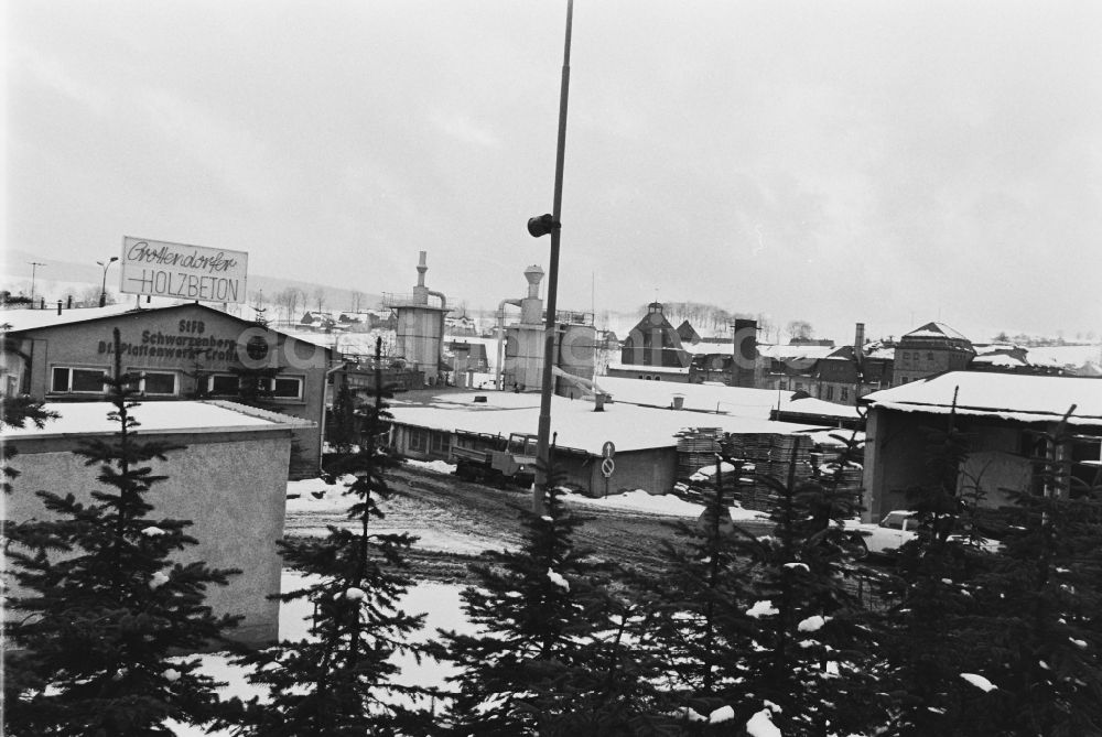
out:
{"label": "pale distant hill on the horizon behind the Holzbeton sign", "polygon": [[[3,272],[0,273],[0,289],[10,290],[13,293],[20,291],[30,293],[31,267],[28,265],[30,261],[44,264],[39,267],[35,273],[35,294],[46,297],[47,302],[62,299],[67,291],[79,294],[89,286],[98,288],[104,279],[104,270],[95,263],[63,261],[12,249],[4,254]],[[108,272],[108,291],[118,291],[118,264],[115,264]],[[325,292],[324,310],[343,311],[350,310],[353,306],[354,290],[350,289],[263,274],[249,274],[250,301],[257,293],[262,292],[264,302],[270,303],[274,300],[276,294],[291,286],[305,294],[305,302],[300,301],[300,304],[303,305],[303,312],[316,308],[317,303],[314,294],[318,289]],[[363,294],[360,304],[365,308],[376,307],[382,300],[380,294],[367,292]]]}

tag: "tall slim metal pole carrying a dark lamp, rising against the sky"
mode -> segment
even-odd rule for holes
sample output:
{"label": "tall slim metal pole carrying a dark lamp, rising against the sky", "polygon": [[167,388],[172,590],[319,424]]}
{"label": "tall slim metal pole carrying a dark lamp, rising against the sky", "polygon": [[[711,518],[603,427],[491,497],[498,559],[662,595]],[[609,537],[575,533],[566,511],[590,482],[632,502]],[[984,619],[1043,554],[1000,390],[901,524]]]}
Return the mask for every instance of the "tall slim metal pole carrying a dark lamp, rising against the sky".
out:
{"label": "tall slim metal pole carrying a dark lamp, rising against the sky", "polygon": [[532,484],[532,512],[543,513],[543,487],[547,485],[551,438],[551,387],[553,383],[554,342],[558,321],[555,297],[559,289],[559,237],[562,215],[562,169],[566,151],[566,97],[570,90],[570,32],[574,17],[574,0],[566,0],[566,43],[562,52],[562,86],[559,91],[559,145],[554,162],[554,205],[551,218],[551,263],[548,271],[548,316],[543,336],[543,388],[540,395],[540,424],[537,434],[536,457],[539,459],[536,481]]}

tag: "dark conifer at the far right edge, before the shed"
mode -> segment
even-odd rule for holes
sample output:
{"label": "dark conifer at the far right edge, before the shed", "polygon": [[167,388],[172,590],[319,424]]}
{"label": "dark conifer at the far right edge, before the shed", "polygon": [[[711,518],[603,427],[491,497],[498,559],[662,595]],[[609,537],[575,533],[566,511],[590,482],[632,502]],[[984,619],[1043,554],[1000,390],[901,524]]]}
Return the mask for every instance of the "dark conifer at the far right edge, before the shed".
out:
{"label": "dark conifer at the far right edge, before the shed", "polygon": [[979,577],[988,643],[977,674],[995,689],[962,686],[990,718],[963,709],[959,734],[1102,734],[1102,501],[1072,484],[1068,420],[1039,433],[1039,490],[1017,491],[1003,554]]}

